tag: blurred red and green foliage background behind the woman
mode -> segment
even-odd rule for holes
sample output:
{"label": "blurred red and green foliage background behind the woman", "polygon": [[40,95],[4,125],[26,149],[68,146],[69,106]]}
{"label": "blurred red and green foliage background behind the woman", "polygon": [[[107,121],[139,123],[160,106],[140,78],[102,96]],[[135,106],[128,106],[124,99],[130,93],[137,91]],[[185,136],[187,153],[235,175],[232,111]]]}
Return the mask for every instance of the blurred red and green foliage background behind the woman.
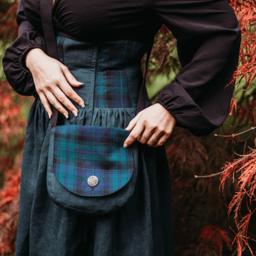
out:
{"label": "blurred red and green foliage background behind the woman", "polygon": [[[236,5],[230,3],[237,12]],[[0,0],[1,59],[6,48],[17,38],[17,6],[17,0]],[[143,69],[145,57],[142,64]],[[2,62],[0,68],[0,255],[6,256],[15,252],[22,150],[26,120],[34,97],[18,95],[6,81]],[[154,103],[159,90],[174,81],[182,69],[175,38],[165,26],[156,35],[149,68],[147,91]],[[241,215],[235,219],[234,213],[230,214],[230,219],[227,215],[228,205],[239,189],[240,174],[234,172],[234,177],[227,178],[223,191],[220,190],[220,176],[194,177],[215,174],[223,164],[239,158],[238,154],[247,153],[248,146],[255,147],[255,134],[252,132],[236,137],[214,136],[238,134],[255,126],[255,79],[248,89],[246,80],[242,78],[239,84],[236,83],[233,95],[238,104],[237,112],[228,115],[222,127],[206,137],[194,137],[188,130],[175,127],[166,142],[172,178],[175,255],[240,255],[236,244],[231,247],[236,238],[232,230],[236,230],[241,216],[246,215],[246,204],[242,203]],[[255,208],[254,204],[252,202]],[[256,239],[254,223],[252,216],[247,236]],[[256,254],[256,242],[250,241],[250,248]],[[242,254],[251,255],[251,252],[244,247]]]}

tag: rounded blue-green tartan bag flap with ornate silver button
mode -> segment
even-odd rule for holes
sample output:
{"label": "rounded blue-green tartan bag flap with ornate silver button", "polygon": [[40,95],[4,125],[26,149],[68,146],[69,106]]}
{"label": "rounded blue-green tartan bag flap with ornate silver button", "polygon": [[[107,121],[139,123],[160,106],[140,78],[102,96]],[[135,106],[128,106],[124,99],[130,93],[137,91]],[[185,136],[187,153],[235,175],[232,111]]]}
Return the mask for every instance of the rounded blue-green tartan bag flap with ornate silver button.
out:
{"label": "rounded blue-green tartan bag flap with ornate silver button", "polygon": [[56,126],[51,172],[67,190],[81,196],[106,196],[125,186],[134,171],[129,130],[100,126]]}

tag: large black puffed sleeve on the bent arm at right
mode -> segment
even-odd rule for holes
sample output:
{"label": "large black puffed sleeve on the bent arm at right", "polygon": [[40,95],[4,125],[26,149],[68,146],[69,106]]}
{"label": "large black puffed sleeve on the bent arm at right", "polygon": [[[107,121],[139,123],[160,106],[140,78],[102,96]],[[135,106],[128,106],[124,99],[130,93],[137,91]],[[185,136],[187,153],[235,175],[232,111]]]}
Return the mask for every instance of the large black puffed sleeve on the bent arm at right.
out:
{"label": "large black puffed sleeve on the bent arm at right", "polygon": [[[197,136],[209,135],[226,119],[238,66],[241,31],[226,0],[153,0],[159,20],[177,39],[182,70],[156,103]],[[226,88],[225,88],[226,87]]]}

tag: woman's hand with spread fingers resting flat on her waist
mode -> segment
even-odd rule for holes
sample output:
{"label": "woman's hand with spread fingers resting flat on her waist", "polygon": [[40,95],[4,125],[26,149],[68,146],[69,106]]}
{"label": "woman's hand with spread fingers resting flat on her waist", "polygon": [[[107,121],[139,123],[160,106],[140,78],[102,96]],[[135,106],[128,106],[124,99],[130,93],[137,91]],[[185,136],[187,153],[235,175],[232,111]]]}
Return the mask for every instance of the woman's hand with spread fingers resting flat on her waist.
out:
{"label": "woman's hand with spread fingers resting flat on her waist", "polygon": [[49,57],[43,50],[35,48],[26,55],[26,66],[32,73],[36,92],[38,92],[49,118],[52,116],[49,102],[66,118],[68,118],[68,111],[62,104],[71,110],[75,116],[78,115],[77,108],[68,97],[84,108],[84,100],[71,87],[79,87],[82,83],[78,82],[61,62]]}

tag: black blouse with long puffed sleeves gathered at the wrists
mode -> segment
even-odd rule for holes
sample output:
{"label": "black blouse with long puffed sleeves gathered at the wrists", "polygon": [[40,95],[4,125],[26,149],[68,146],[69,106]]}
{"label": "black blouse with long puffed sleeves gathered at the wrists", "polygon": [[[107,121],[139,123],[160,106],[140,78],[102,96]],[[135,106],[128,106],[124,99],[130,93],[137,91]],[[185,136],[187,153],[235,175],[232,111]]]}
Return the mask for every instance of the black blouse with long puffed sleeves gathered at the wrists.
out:
{"label": "black blouse with long puffed sleeves gathered at the wrists", "polygon": [[[18,94],[36,96],[24,64],[26,52],[47,54],[39,0],[20,0],[18,38],[2,60],[7,80]],[[130,39],[151,43],[165,24],[177,39],[182,71],[164,87],[157,103],[176,119],[176,126],[195,136],[210,134],[226,119],[231,81],[238,66],[241,31],[226,0],[56,0],[54,28],[82,41]]]}

